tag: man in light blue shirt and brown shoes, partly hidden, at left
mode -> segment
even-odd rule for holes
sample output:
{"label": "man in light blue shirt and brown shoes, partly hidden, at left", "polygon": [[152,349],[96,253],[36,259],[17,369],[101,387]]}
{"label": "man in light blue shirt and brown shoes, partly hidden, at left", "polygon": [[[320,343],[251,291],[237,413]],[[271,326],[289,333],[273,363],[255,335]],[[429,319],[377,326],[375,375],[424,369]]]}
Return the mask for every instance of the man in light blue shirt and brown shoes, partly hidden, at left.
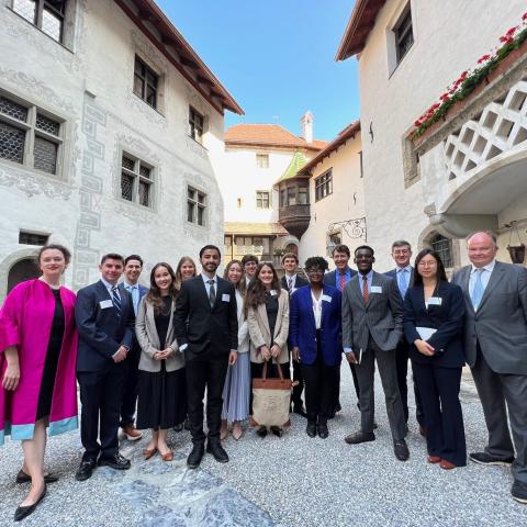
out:
{"label": "man in light blue shirt and brown shoes, partly hidden, at left", "polygon": [[[143,270],[143,259],[139,255],[130,255],[124,259],[124,280],[119,284],[120,290],[127,291],[132,296],[134,304],[134,314],[137,316],[137,307],[141,299],[148,292],[148,288],[139,283],[141,271]],[[137,405],[137,390],[139,378],[139,358],[141,346],[135,338],[132,344],[126,362],[127,373],[123,393],[123,404],[121,406],[121,423],[124,435],[128,441],[136,441],[143,437],[141,430],[134,426],[135,407]]]}

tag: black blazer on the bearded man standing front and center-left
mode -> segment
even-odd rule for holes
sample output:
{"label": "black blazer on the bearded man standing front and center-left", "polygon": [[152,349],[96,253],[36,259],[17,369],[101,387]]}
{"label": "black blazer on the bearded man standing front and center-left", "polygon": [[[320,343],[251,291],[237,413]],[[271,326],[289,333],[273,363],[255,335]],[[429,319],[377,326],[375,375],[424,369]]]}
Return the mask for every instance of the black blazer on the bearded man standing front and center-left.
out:
{"label": "black blazer on the bearded man standing front and center-left", "polygon": [[234,285],[217,277],[216,302],[211,309],[201,276],[186,280],[176,300],[173,327],[179,347],[201,354],[209,346],[214,352],[238,349],[238,314]]}

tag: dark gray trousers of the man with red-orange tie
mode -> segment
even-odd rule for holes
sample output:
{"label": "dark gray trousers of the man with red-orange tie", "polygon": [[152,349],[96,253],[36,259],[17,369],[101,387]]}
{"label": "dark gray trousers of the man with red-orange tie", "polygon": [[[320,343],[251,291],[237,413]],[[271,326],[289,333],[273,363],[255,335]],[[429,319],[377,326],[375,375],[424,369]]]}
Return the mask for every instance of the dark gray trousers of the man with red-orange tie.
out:
{"label": "dark gray trousers of the man with red-orange tie", "polygon": [[374,373],[375,359],[381,375],[382,388],[386,401],[388,419],[394,441],[404,439],[405,419],[403,403],[397,383],[397,366],[395,350],[383,351],[370,337],[368,349],[362,352],[360,365],[356,366],[359,381],[360,424],[363,433],[373,431],[374,403]]}

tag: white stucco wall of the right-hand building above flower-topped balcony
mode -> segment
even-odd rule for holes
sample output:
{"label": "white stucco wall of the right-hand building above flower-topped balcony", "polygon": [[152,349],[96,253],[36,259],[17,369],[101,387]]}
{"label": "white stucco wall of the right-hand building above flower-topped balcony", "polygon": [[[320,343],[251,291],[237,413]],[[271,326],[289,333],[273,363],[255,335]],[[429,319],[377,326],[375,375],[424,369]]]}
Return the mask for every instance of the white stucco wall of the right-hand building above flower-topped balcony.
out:
{"label": "white stucco wall of the right-hand building above flower-topped balcony", "polygon": [[416,246],[428,225],[423,182],[404,189],[402,138],[461,71],[498,45],[498,36],[517,25],[525,11],[520,0],[412,0],[415,42],[390,75],[391,29],[406,4],[385,3],[359,59],[366,214],[378,268],[392,264],[389,248],[394,239]]}

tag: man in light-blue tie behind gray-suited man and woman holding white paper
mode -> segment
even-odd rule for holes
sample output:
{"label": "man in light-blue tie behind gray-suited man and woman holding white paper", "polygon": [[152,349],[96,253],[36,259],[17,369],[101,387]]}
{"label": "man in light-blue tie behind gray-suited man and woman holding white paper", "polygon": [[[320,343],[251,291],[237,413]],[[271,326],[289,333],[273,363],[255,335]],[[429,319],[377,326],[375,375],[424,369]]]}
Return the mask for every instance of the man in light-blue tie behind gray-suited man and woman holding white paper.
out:
{"label": "man in light-blue tie behind gray-suited man and woman holding white paper", "polygon": [[[404,300],[407,289],[414,283],[414,268],[410,265],[412,258],[412,246],[404,239],[397,239],[392,244],[392,258],[395,262],[395,269],[384,274],[393,278],[397,282],[399,292]],[[408,427],[408,351],[410,345],[405,338],[402,338],[395,350],[395,359],[397,366],[399,391],[403,403],[404,418],[406,428]],[[423,416],[423,406],[421,404],[421,395],[417,384],[414,382],[415,395],[415,418],[419,424],[421,435],[425,435],[425,418]]]}

